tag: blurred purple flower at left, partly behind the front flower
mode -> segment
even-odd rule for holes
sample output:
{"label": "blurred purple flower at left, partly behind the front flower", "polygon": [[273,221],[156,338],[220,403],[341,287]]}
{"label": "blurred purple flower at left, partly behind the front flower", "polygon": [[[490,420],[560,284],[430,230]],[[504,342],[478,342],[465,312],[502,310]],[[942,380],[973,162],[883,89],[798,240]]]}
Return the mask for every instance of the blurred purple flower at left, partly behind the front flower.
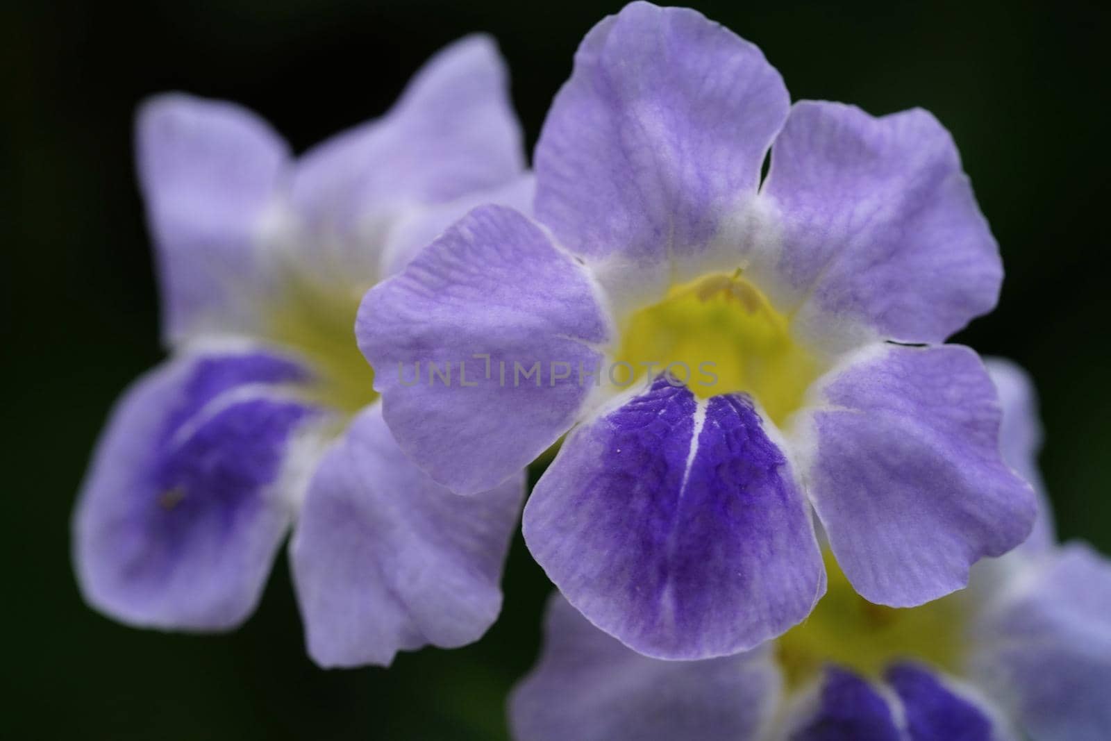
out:
{"label": "blurred purple flower at left, partly behind the front flower", "polygon": [[523,497],[458,497],[381,418],[359,300],[477,203],[527,203],[486,38],[434,57],[383,118],[293,160],[237,106],[147,102],[138,159],[169,361],[119,402],[73,518],[78,580],[123,622],[233,628],[291,525],[309,653],[388,664],[478,639]]}

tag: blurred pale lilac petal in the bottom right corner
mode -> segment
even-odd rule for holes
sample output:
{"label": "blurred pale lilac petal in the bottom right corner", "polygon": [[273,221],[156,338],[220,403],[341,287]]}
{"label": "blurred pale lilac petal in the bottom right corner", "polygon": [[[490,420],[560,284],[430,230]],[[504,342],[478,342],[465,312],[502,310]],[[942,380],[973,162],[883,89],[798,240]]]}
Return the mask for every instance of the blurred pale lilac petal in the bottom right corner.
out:
{"label": "blurred pale lilac petal in the bottom right corner", "polygon": [[984,614],[972,673],[1034,741],[1098,741],[1111,729],[1111,562],[1074,543]]}

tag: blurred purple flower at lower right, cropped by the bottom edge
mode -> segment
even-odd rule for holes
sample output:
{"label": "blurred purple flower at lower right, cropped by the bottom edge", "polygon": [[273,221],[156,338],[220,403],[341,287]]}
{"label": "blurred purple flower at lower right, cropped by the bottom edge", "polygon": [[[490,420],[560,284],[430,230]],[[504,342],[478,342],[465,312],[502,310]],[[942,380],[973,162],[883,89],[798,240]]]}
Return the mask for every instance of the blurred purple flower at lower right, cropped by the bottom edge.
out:
{"label": "blurred purple flower at lower right, cropped by the bottom edge", "polygon": [[[1003,451],[1035,471],[1025,375],[995,362]],[[973,569],[924,607],[870,604],[847,583],[807,623],[751,652],[660,661],[623,647],[562,598],[514,690],[517,741],[1101,741],[1111,729],[1111,562],[1043,540]]]}

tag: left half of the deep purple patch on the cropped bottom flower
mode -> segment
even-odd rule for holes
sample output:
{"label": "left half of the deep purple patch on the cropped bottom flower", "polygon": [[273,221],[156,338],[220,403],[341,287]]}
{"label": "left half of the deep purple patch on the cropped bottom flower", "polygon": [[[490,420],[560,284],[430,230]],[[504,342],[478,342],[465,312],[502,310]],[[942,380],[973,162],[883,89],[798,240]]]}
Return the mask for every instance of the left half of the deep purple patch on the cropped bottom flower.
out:
{"label": "left half of the deep purple patch on the cropped bottom flower", "polygon": [[891,705],[860,677],[830,667],[787,721],[790,741],[903,741]]}

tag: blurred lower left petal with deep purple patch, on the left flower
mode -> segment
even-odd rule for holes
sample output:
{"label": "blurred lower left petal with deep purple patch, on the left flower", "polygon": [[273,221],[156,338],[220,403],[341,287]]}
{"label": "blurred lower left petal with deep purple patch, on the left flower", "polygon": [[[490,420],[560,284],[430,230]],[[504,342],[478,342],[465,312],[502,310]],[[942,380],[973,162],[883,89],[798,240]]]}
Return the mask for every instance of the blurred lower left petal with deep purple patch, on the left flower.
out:
{"label": "blurred lower left petal with deep purple patch, on the left flower", "polygon": [[254,608],[292,511],[287,458],[314,412],[281,393],[292,362],[186,358],[120,401],[73,521],[78,579],[138,625],[220,630]]}

